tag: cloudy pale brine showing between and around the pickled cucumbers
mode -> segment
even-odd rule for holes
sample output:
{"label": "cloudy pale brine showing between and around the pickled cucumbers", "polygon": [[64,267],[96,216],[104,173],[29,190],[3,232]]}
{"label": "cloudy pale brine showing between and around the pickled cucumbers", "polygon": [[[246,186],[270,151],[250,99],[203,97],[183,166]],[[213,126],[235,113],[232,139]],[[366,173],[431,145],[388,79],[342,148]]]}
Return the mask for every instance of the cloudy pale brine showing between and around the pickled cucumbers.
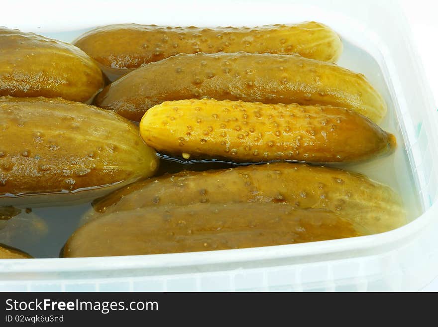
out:
{"label": "cloudy pale brine showing between and around the pickled cucumbers", "polygon": [[[84,30],[45,33],[44,36],[71,42]],[[408,160],[405,144],[394,111],[394,103],[378,63],[364,50],[343,40],[344,51],[339,66],[364,74],[370,83],[382,94],[388,104],[388,114],[380,124],[383,129],[397,137],[398,147],[394,154],[365,164],[343,167],[363,173],[370,179],[392,187],[402,197],[408,221],[419,217],[422,206],[414,183],[413,172]],[[160,173],[176,172],[182,169],[214,169],[226,167],[221,163],[182,165],[162,162]],[[0,200],[1,201],[1,200]],[[0,203],[1,205],[1,203]],[[58,257],[61,248],[78,227],[81,216],[91,208],[91,203],[62,207],[23,207],[21,213],[7,221],[0,220],[0,243],[28,252],[36,258]],[[31,210],[29,210],[31,209]]]}

